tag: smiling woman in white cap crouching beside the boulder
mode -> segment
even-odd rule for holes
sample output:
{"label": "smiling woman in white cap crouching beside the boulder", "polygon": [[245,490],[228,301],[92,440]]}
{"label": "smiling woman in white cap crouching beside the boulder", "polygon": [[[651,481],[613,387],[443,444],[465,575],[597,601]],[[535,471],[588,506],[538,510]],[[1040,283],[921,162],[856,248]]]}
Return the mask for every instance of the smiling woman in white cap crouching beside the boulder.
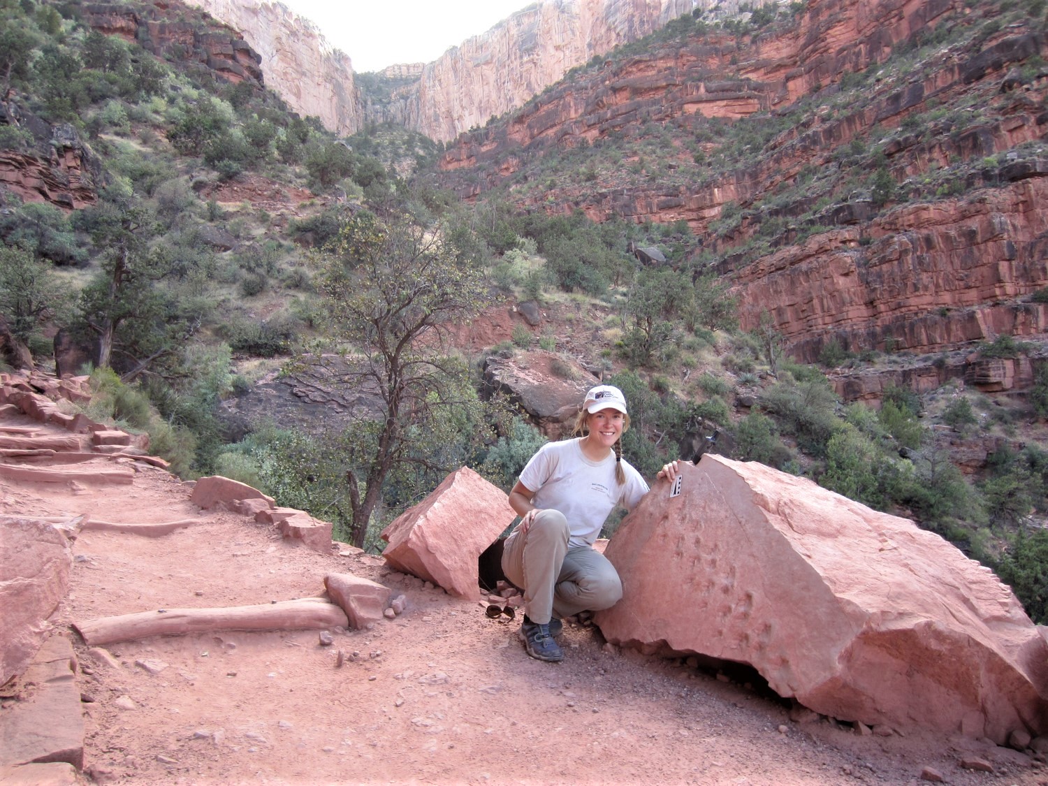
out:
{"label": "smiling woman in white cap crouching beside the boulder", "polygon": [[[629,428],[623,391],[592,388],[575,420],[573,433],[582,436],[544,444],[509,493],[521,523],[506,539],[502,570],[524,589],[521,632],[532,658],[562,660],[554,638],[560,617],[607,609],[623,596],[618,573],[593,541],[616,505],[632,510],[648,493],[645,479],[623,460]],[[676,461],[658,473],[671,482],[676,475]]]}

